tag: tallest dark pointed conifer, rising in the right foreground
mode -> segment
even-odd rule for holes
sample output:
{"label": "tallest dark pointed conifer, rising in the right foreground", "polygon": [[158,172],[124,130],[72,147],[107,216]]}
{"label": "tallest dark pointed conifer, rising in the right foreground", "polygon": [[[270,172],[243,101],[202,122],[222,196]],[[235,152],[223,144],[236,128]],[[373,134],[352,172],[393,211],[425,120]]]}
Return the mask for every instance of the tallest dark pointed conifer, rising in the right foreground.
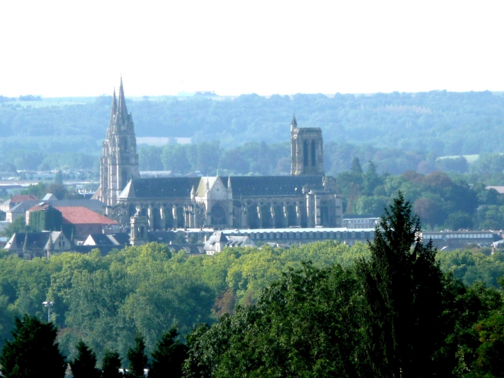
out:
{"label": "tallest dark pointed conifer, rising in the right foreground", "polygon": [[402,193],[385,210],[371,258],[357,266],[363,285],[358,352],[364,377],[432,377],[444,341],[443,276],[436,250],[423,245],[420,220]]}

